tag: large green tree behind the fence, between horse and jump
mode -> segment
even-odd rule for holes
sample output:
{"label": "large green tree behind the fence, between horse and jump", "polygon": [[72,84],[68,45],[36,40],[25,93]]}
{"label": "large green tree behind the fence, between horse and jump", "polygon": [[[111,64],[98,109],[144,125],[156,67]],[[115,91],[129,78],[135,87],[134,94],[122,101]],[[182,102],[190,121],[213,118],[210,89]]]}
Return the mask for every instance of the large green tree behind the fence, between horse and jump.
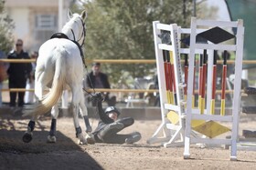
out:
{"label": "large green tree behind the fence, between horse and jump", "polygon": [[[155,59],[153,21],[188,26],[190,1],[92,0],[88,11],[86,59]],[[186,6],[186,8],[185,8]],[[116,83],[123,72],[133,77],[148,75],[155,65],[103,65]]]}

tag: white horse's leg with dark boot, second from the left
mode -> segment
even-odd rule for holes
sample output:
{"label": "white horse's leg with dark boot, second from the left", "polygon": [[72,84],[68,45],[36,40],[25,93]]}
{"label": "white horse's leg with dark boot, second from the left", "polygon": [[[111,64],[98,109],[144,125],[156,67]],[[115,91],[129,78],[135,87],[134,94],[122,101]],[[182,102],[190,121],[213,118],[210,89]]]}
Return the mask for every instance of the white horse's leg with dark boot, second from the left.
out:
{"label": "white horse's leg with dark boot, second from the left", "polygon": [[59,116],[59,107],[58,104],[54,105],[51,109],[51,124],[48,135],[48,143],[56,143],[56,123]]}

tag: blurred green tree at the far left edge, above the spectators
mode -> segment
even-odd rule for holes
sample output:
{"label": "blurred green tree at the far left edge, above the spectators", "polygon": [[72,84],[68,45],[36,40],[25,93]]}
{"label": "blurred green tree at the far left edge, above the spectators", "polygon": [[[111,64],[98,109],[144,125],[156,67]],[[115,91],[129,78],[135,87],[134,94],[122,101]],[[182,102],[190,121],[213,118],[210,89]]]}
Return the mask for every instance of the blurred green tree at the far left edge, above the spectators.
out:
{"label": "blurred green tree at the far left edge, above the spectators", "polygon": [[12,30],[14,28],[13,20],[5,13],[5,1],[0,1],[0,50],[6,54],[12,49],[14,38]]}

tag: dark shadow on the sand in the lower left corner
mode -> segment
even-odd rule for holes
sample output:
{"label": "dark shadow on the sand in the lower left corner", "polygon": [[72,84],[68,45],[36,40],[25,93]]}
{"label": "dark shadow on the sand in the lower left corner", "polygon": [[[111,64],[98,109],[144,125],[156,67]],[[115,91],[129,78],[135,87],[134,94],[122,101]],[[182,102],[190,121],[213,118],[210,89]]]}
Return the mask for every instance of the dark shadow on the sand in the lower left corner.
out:
{"label": "dark shadow on the sand in the lower left corner", "polygon": [[12,118],[18,119],[0,114],[0,169],[103,169],[84,148],[59,131],[58,142],[48,144],[44,125],[37,124],[41,131],[35,131],[33,140],[24,143],[25,132],[17,126],[27,125],[23,125],[24,121],[16,121],[16,125]]}

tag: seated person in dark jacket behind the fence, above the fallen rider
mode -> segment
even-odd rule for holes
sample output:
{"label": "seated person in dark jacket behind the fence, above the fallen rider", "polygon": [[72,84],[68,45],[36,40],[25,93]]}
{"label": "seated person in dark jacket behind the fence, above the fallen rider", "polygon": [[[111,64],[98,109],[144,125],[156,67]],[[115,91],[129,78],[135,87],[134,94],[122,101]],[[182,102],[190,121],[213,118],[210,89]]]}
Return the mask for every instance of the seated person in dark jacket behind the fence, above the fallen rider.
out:
{"label": "seated person in dark jacket behind the fence, above the fallen rider", "polygon": [[[93,63],[91,73],[86,76],[86,87],[88,88],[111,88],[108,75],[101,72],[101,64]],[[116,96],[109,96],[110,93],[105,93],[105,101],[108,105],[114,106],[116,103]],[[95,102],[92,102],[95,106]]]}

